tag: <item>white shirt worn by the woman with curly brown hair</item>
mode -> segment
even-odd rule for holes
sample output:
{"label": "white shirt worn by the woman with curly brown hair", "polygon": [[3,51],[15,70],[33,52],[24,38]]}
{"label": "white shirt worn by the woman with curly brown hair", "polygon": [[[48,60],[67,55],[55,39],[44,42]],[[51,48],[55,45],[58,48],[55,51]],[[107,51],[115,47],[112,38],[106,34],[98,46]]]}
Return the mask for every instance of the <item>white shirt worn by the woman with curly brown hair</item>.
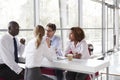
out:
{"label": "white shirt worn by the woman with curly brown hair", "polygon": [[86,41],[83,39],[81,42],[78,42],[77,45],[74,45],[74,42],[69,42],[68,47],[65,51],[65,53],[80,53],[82,54],[81,59],[88,59],[90,58],[89,51],[88,51],[88,45]]}

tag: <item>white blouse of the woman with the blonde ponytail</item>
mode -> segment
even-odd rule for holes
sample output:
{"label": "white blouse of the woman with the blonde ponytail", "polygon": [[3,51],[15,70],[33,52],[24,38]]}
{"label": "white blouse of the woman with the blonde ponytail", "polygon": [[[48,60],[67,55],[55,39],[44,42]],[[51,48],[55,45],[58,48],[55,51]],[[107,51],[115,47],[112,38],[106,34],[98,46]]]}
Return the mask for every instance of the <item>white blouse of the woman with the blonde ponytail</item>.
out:
{"label": "white blouse of the woman with the blonde ponytail", "polygon": [[45,40],[42,40],[40,46],[36,48],[35,39],[32,39],[28,42],[24,54],[26,54],[25,66],[27,68],[40,67],[44,57],[51,61],[56,59],[55,50],[48,48]]}

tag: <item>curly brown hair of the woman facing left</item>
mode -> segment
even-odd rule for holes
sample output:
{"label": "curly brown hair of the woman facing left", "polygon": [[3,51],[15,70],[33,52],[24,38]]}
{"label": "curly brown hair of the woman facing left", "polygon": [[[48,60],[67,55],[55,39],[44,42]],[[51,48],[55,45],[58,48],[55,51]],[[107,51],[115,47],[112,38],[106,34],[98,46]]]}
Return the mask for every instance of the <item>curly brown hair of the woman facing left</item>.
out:
{"label": "curly brown hair of the woman facing left", "polygon": [[82,39],[85,38],[85,34],[82,28],[72,27],[70,30],[72,30],[76,41],[80,42]]}

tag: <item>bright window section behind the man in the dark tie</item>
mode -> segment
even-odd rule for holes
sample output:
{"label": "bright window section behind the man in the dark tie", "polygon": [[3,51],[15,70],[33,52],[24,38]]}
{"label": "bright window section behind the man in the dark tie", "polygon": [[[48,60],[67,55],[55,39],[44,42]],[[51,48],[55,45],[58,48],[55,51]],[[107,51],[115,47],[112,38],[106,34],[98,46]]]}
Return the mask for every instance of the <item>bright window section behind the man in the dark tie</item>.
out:
{"label": "bright window section behind the man in the dark tie", "polygon": [[17,21],[22,29],[19,36],[29,40],[32,37],[29,34],[33,34],[28,32],[34,27],[33,15],[33,0],[0,0],[0,34],[6,32],[10,21]]}

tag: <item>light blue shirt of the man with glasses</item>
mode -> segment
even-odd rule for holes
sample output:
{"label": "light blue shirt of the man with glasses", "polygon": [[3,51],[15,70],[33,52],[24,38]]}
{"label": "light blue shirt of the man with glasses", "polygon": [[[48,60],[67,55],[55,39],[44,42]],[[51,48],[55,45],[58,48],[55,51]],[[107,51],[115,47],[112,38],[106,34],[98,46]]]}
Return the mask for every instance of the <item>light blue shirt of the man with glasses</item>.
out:
{"label": "light blue shirt of the man with glasses", "polygon": [[57,56],[63,56],[62,54],[62,45],[61,45],[61,39],[60,37],[54,35],[52,38],[51,38],[51,46],[52,48],[54,48],[56,50],[56,54]]}

